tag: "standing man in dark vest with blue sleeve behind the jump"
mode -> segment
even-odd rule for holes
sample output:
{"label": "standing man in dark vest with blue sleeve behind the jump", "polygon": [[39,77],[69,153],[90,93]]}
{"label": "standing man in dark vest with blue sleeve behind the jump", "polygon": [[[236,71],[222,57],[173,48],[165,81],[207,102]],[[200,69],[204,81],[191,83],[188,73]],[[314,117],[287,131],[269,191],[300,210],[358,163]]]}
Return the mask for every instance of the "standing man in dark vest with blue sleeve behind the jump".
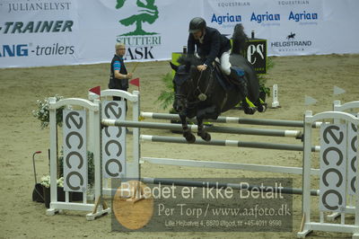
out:
{"label": "standing man in dark vest with blue sleeve behind the jump", "polygon": [[[109,89],[127,91],[128,79],[132,78],[132,73],[127,73],[123,57],[126,54],[126,45],[117,42],[115,45],[116,54],[112,58],[109,76]],[[114,96],[114,101],[120,101],[121,97]],[[126,102],[127,109],[127,102]]]}

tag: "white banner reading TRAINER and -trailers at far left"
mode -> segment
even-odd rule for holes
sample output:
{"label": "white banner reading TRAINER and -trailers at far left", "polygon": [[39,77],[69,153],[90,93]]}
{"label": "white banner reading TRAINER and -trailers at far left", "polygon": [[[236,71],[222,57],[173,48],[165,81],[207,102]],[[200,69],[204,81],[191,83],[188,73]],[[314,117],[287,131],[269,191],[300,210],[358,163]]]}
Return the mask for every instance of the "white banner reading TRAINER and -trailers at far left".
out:
{"label": "white banner reading TRAINER and -trailers at far left", "polygon": [[77,1],[0,3],[0,67],[74,64]]}

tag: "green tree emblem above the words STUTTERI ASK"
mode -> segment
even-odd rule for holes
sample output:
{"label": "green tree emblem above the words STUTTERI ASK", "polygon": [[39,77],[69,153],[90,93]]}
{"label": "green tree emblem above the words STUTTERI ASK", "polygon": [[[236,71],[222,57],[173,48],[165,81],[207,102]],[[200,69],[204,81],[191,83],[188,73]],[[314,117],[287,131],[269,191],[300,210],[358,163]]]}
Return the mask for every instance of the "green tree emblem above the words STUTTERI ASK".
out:
{"label": "green tree emblem above the words STUTTERI ASK", "polygon": [[[126,0],[117,0],[116,9],[123,7]],[[129,0],[134,1],[134,0]],[[145,4],[144,4],[145,1]],[[129,26],[136,23],[136,30],[121,34],[120,36],[138,36],[138,35],[155,35],[157,32],[147,32],[142,29],[142,22],[152,24],[158,18],[157,6],[154,5],[154,0],[136,0],[137,13],[118,21],[122,25]]]}

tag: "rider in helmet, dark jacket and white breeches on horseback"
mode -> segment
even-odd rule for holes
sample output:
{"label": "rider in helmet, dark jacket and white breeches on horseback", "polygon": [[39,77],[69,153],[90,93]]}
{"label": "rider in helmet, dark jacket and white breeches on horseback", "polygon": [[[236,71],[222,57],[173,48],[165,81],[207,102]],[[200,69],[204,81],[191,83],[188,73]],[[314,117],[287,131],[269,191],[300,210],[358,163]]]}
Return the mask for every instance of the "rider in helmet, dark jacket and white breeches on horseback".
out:
{"label": "rider in helmet, dark jacket and white breeches on horseback", "polygon": [[231,68],[231,41],[215,28],[207,27],[206,21],[201,17],[195,17],[189,22],[188,31],[188,55],[193,55],[195,53],[195,47],[197,47],[199,57],[205,58],[205,63],[197,66],[197,70],[206,70],[207,66],[215,61],[215,58],[219,58],[223,74],[234,78],[234,82],[239,86],[243,96],[247,97],[248,90],[246,82]]}

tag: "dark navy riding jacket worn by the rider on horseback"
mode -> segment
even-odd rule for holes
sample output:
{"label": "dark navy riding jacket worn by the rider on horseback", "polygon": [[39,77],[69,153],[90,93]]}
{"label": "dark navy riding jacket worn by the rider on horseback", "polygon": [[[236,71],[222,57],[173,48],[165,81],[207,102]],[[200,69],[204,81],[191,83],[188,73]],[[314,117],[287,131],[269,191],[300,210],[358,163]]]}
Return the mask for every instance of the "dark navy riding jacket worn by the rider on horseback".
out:
{"label": "dark navy riding jacket worn by the rider on horseback", "polygon": [[189,34],[187,44],[189,55],[195,53],[195,46],[199,57],[205,58],[205,64],[209,66],[215,58],[221,58],[223,52],[231,49],[231,41],[215,28],[206,27],[203,43],[195,40],[192,33]]}

